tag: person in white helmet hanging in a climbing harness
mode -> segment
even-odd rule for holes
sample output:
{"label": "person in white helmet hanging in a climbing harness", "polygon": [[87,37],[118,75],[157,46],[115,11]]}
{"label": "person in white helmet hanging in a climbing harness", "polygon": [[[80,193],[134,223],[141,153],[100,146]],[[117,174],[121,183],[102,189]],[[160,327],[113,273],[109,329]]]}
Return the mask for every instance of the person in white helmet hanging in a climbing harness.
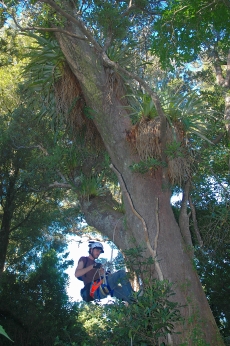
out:
{"label": "person in white helmet hanging in a climbing harness", "polygon": [[86,302],[106,298],[109,294],[128,303],[133,302],[132,286],[125,270],[106,273],[101,263],[95,260],[104,253],[103,245],[99,242],[89,243],[89,256],[81,257],[75,270],[75,276],[84,282],[81,297]]}

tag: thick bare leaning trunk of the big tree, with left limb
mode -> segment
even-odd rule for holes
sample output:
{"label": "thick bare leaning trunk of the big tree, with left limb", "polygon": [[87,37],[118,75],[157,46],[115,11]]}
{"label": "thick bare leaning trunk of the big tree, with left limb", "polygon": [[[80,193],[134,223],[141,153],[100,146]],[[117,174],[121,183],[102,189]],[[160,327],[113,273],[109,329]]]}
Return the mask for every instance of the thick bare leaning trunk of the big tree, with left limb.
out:
{"label": "thick bare leaning trunk of the big tree, with left limb", "polygon": [[[76,27],[72,30],[75,34],[83,35]],[[158,267],[155,276],[176,284],[175,299],[184,306],[182,314],[185,324],[177,327],[181,334],[173,336],[174,345],[182,342],[197,345],[192,340],[198,332],[200,339],[203,338],[210,345],[222,345],[200,280],[174,218],[170,190],[163,184],[163,169],[152,174],[132,173],[130,170],[130,165],[138,162],[139,158],[126,140],[126,131],[130,130],[131,123],[122,104],[121,97],[125,93],[122,93],[121,78],[103,65],[101,56],[86,41],[73,40],[62,34],[58,34],[57,38],[80,83],[87,106],[94,110],[93,122],[118,171],[125,205],[125,215],[122,215],[108,205],[108,196],[107,199],[97,197],[82,203],[86,221],[111,240],[114,239],[121,250],[130,247],[134,238],[136,246],[146,244],[147,256],[156,255]],[[125,223],[122,223],[124,219]]]}

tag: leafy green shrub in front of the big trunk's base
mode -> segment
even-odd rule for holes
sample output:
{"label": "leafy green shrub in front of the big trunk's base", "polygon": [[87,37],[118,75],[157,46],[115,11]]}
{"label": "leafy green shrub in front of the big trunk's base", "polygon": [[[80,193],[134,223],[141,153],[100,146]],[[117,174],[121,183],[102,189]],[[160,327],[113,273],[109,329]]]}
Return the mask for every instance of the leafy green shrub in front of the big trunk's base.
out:
{"label": "leafy green shrub in front of the big trunk's base", "polygon": [[134,342],[157,345],[158,339],[172,334],[174,324],[181,321],[179,306],[171,301],[174,293],[167,281],[145,279],[143,285],[143,296],[134,295],[137,303],[124,310],[123,323]]}

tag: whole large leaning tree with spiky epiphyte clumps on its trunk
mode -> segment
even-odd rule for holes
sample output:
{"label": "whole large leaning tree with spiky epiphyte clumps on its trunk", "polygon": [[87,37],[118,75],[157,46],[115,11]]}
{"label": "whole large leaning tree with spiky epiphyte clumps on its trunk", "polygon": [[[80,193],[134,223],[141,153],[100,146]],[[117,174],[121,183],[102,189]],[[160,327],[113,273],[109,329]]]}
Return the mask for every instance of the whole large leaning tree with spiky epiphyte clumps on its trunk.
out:
{"label": "whole large leaning tree with spiky epiphyte clumps on its trunk", "polygon": [[[79,203],[85,220],[121,250],[133,246],[133,241],[136,246],[144,245],[146,256],[155,260],[155,276],[176,283],[175,299],[182,305],[185,322],[176,326],[181,334],[169,336],[169,343],[197,344],[203,339],[221,345],[192,264],[186,212],[191,178],[188,143],[193,150],[200,149],[201,144],[194,145],[196,137],[188,136],[182,118],[186,102],[193,112],[200,112],[199,104],[188,100],[187,91],[181,89],[182,98],[177,104],[175,98],[169,98],[170,93],[160,98],[155,60],[150,56],[157,33],[155,19],[166,5],[161,1],[41,0],[28,8],[34,21],[23,18],[23,23],[17,25],[20,30],[55,33],[67,62],[62,79],[55,81],[58,109],[71,118],[76,137],[85,134],[84,150],[91,157],[93,150],[97,154],[89,162],[78,162],[79,167],[92,182],[92,175],[100,174],[100,165],[95,166],[96,159],[101,160],[98,152],[106,152],[119,181],[122,210],[111,193],[94,193],[88,184],[87,193],[83,193],[81,187]],[[162,89],[163,83],[158,84]],[[103,179],[101,187],[107,183]],[[82,179],[75,177],[73,183],[79,188]],[[184,186],[179,224],[170,205],[171,186],[175,183]]]}

